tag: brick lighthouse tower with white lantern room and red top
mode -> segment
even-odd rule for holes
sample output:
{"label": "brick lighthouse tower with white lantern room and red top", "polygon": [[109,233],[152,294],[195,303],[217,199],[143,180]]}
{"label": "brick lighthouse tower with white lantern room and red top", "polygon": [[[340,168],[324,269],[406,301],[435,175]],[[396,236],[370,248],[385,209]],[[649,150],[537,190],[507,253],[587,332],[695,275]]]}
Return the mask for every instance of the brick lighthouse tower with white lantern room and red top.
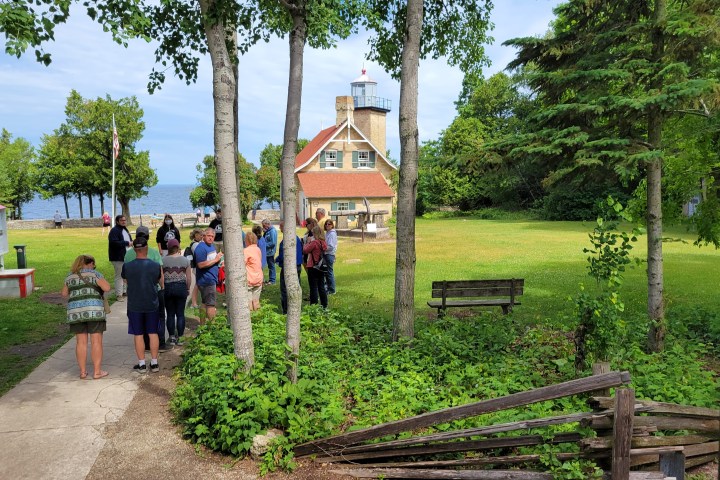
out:
{"label": "brick lighthouse tower with white lantern room and red top", "polygon": [[364,68],[362,75],[350,84],[350,91],[355,107],[353,123],[384,154],[387,151],[385,118],[390,111],[390,100],[377,96],[377,82]]}

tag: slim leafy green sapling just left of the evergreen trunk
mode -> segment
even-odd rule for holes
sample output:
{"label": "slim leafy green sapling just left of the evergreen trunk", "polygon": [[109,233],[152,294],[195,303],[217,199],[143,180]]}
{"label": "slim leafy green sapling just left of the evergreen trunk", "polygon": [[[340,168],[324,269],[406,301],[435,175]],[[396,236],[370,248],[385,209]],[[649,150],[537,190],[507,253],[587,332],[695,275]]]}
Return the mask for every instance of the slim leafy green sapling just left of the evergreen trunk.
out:
{"label": "slim leafy green sapling just left of the evergreen trunk", "polygon": [[617,232],[618,220],[631,221],[623,206],[612,197],[608,198],[605,219],[599,217],[593,232],[589,234],[588,275],[597,283],[597,292],[591,294],[580,285],[575,297],[578,325],[575,329],[575,369],[580,372],[591,359],[607,361],[613,347],[624,329],[625,304],[620,299],[625,266],[631,262],[630,251],[637,241],[637,229],[633,234]]}

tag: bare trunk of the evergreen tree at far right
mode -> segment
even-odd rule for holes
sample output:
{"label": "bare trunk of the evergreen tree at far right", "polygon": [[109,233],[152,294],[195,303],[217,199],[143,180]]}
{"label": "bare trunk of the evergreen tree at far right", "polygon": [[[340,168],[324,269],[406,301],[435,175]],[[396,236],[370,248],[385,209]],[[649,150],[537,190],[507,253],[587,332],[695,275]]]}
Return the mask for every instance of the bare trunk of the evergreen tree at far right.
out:
{"label": "bare trunk of the evergreen tree at far right", "polygon": [[[666,0],[655,0],[653,13],[653,52],[656,66],[664,55],[663,28],[667,14]],[[657,67],[659,68],[659,67]],[[650,83],[651,91],[662,89],[662,77],[655,72],[655,80]],[[662,128],[663,114],[658,106],[648,111],[648,143],[658,152],[658,156],[647,165],[647,209],[648,209],[648,349],[660,352],[665,340],[665,305],[663,301],[663,258],[662,258]]]}

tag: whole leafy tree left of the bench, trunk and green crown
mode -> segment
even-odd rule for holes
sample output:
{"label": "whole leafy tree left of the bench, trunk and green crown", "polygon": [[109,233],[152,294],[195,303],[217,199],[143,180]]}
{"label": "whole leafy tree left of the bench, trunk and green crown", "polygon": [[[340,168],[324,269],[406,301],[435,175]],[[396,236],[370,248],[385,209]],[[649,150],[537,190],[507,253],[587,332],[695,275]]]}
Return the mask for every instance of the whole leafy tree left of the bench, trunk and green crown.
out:
{"label": "whole leafy tree left of the bench, trunk and green crown", "polygon": [[395,253],[393,338],[414,337],[415,198],[418,180],[417,70],[427,56],[447,57],[463,72],[487,63],[490,1],[390,0],[368,2],[369,58],[400,78],[400,177]]}

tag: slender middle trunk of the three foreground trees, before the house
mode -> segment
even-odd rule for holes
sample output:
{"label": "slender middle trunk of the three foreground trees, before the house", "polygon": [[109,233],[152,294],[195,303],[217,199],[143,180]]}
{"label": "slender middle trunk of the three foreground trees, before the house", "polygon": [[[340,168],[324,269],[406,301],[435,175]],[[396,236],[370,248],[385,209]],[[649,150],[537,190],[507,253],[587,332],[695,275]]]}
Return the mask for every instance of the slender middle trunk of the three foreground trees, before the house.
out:
{"label": "slender middle trunk of the three foreground trees, before the house", "polygon": [[295,255],[295,208],[297,191],[295,188],[295,151],[300,129],[300,105],[302,99],[303,55],[307,25],[305,4],[292,12],[293,29],[290,32],[290,75],[288,78],[288,96],[285,110],[285,133],[282,153],[282,189],[283,189],[283,275],[288,295],[288,311],[285,323],[285,342],[288,345],[287,377],[297,383],[297,364],[300,355],[300,310],[302,308],[302,290],[298,281]]}

